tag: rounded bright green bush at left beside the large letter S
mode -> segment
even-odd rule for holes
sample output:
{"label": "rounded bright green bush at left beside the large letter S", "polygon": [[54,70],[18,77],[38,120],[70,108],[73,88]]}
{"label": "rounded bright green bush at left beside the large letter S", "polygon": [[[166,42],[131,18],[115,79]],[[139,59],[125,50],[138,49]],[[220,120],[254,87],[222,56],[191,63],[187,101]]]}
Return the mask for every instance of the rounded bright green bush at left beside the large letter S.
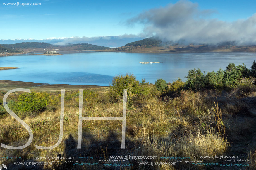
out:
{"label": "rounded bright green bush at left beside the large letter S", "polygon": [[31,91],[31,93],[22,93],[18,97],[18,102],[16,104],[16,110],[19,112],[35,115],[44,109],[49,102],[49,94],[37,93]]}

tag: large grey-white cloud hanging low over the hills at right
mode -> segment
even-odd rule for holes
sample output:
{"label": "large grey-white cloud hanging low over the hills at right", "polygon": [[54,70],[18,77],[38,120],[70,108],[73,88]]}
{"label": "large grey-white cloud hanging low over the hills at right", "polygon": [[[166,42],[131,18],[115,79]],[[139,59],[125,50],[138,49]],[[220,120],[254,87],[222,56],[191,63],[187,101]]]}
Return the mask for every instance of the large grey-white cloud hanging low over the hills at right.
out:
{"label": "large grey-white cloud hanging low over the hills at right", "polygon": [[130,18],[127,23],[142,23],[143,36],[158,36],[174,42],[238,44],[256,43],[256,14],[233,22],[210,19],[213,10],[200,10],[197,3],[181,0],[154,8]]}

